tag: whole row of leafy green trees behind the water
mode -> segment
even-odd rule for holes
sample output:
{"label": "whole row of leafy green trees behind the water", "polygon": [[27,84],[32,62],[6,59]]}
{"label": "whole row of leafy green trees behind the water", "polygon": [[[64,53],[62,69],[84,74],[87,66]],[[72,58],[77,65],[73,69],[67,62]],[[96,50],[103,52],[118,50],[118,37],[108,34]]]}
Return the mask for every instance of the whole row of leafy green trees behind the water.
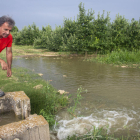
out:
{"label": "whole row of leafy green trees behind the water", "polygon": [[[35,24],[24,27],[22,31],[12,33],[16,45],[34,45],[50,51],[96,52],[105,54],[114,50],[140,49],[140,21],[129,22],[119,14],[111,23],[109,13],[94,17],[94,11],[86,11],[79,4],[77,19],[64,18],[63,26],[42,27]],[[16,27],[15,27],[16,28]],[[16,29],[14,29],[16,30]]]}

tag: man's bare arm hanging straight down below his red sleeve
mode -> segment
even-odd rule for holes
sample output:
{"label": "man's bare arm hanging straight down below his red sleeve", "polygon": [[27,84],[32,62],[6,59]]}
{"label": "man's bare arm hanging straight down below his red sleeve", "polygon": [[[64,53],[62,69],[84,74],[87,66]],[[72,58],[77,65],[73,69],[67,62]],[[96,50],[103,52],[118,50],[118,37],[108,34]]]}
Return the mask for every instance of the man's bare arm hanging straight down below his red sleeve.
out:
{"label": "man's bare arm hanging straight down below his red sleeve", "polygon": [[6,59],[7,59],[7,77],[11,77],[12,70],[12,47],[6,47]]}

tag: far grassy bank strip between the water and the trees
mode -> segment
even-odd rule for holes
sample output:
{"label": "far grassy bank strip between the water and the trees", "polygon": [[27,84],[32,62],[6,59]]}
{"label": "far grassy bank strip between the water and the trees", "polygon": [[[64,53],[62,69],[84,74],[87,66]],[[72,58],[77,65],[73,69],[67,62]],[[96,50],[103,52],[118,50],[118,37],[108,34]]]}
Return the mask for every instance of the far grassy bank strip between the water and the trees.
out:
{"label": "far grassy bank strip between the water and the trees", "polygon": [[[13,44],[13,58],[25,56],[84,56],[86,61],[111,64],[122,68],[140,68],[140,51],[119,50],[108,54],[100,55],[92,52],[85,54],[76,54],[70,52],[50,52],[47,49],[34,48],[33,46],[17,46]],[[4,53],[3,53],[4,54]]]}

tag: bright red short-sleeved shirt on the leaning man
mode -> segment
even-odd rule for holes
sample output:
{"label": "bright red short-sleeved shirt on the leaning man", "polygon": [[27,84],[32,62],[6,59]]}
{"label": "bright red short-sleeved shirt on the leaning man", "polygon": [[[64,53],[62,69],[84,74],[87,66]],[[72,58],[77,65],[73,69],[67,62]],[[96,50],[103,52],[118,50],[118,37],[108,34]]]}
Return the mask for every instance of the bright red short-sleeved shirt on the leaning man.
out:
{"label": "bright red short-sleeved shirt on the leaning man", "polygon": [[12,47],[13,38],[12,35],[9,34],[7,38],[0,39],[0,52],[6,47]]}

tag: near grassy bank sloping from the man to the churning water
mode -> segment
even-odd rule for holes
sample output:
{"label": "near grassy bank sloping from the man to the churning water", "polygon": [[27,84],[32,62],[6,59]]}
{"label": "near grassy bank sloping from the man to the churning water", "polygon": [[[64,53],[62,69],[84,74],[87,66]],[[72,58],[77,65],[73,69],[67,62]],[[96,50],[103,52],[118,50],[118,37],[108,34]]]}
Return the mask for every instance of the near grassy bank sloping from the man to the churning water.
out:
{"label": "near grassy bank sloping from the man to the churning water", "polygon": [[[12,73],[8,78],[6,71],[0,69],[0,88],[4,92],[24,91],[30,98],[31,113],[43,115],[52,126],[55,113],[68,105],[68,99],[30,70],[13,68]],[[35,88],[37,85],[41,85],[39,89]]]}

